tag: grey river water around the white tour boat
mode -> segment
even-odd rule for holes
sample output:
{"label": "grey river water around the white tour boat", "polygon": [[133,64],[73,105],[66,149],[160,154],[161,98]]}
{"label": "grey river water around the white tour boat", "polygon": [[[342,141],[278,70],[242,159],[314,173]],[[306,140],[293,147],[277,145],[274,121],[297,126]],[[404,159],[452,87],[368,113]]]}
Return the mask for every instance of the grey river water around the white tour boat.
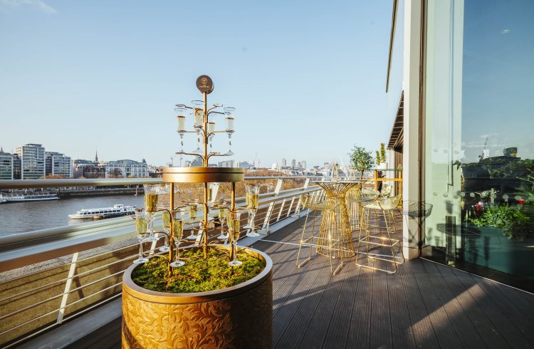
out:
{"label": "grey river water around the white tour boat", "polygon": [[112,195],[103,197],[73,197],[51,201],[10,202],[0,204],[0,235],[22,233],[38,229],[56,228],[90,222],[83,219],[70,219],[80,209],[111,207],[114,204],[143,205],[143,195]]}

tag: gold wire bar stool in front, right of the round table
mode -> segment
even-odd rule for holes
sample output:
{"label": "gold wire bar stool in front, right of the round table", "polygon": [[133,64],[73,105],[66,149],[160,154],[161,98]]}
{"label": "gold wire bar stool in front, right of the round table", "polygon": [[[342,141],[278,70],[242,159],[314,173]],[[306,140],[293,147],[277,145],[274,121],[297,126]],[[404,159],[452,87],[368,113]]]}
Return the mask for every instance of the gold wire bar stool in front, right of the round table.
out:
{"label": "gold wire bar stool in front, right of the round table", "polygon": [[[374,202],[363,204],[363,219],[362,227],[360,230],[360,236],[358,239],[356,264],[365,268],[375,269],[379,271],[385,271],[389,274],[393,274],[397,271],[397,264],[404,263],[404,254],[402,254],[402,246],[400,239],[392,238],[392,235],[396,234],[397,226],[394,222],[393,211],[399,207],[401,196],[387,197],[385,199],[377,199]],[[377,212],[382,212],[382,218],[384,222],[385,233],[387,237],[382,235],[382,229],[379,225],[379,217]],[[371,214],[375,216],[374,225],[371,224]],[[365,236],[362,238],[362,233],[365,232]],[[373,234],[375,233],[375,234]],[[394,236],[395,237],[395,236]],[[377,266],[370,266],[360,263],[360,243],[365,244],[367,251],[367,258],[373,262],[386,261],[392,265],[392,269],[379,268]],[[394,251],[394,247],[397,247],[397,253]],[[379,251],[375,251],[375,250]],[[399,254],[399,256],[397,256]],[[388,263],[388,264],[389,264]]]}

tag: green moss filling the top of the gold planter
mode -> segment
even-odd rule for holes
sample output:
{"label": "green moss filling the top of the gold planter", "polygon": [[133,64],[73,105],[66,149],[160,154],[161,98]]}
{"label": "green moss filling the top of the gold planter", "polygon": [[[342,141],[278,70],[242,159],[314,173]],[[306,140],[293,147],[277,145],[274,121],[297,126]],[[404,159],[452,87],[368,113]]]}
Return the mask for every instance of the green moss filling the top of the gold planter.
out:
{"label": "green moss filling the top of the gold planter", "polygon": [[167,279],[167,261],[152,258],[132,272],[132,280],[138,286],[152,291],[189,293],[214,291],[250,280],[265,268],[265,262],[249,254],[239,254],[241,266],[228,266],[228,253],[221,249],[209,249],[204,259],[202,249],[189,249],[180,254],[186,264],[174,268]]}

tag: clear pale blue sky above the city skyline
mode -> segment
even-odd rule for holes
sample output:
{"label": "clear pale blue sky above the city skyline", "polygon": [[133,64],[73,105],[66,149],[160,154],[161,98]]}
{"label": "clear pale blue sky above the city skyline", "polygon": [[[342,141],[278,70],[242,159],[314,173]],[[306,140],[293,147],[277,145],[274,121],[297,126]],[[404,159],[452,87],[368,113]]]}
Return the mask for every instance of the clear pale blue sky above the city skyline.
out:
{"label": "clear pale blue sky above the city skyline", "polygon": [[[391,11],[385,0],[0,0],[0,146],[164,165],[179,150],[174,105],[200,99],[206,74],[208,102],[236,108],[234,160],[374,154],[394,120]],[[214,149],[228,150],[225,134]]]}

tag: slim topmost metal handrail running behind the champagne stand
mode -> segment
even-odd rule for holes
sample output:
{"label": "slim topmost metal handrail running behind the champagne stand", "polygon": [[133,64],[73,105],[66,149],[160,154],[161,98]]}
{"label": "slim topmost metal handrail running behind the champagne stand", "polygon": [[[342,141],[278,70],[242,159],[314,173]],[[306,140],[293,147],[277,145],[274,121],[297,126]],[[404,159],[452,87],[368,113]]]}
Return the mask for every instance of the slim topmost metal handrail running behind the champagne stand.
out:
{"label": "slim topmost metal handrail running behind the champagne stand", "polygon": [[[318,178],[323,176],[263,176],[245,177],[245,180],[254,179],[299,179]],[[62,187],[106,187],[111,185],[159,184],[161,178],[82,178],[82,179],[2,179],[0,189],[27,189],[27,188],[62,188]]]}

